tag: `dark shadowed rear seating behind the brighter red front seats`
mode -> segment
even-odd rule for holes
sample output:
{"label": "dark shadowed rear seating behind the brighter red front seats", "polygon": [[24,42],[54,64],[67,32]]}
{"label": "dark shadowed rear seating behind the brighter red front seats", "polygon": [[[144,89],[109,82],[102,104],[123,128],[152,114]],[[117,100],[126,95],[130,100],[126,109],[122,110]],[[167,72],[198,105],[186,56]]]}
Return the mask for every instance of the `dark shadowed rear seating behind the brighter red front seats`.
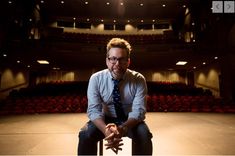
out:
{"label": "dark shadowed rear seating behind the brighter red front seats", "polygon": [[[86,94],[87,81],[56,81],[50,83],[41,83],[36,86],[13,90],[10,96],[57,96],[67,93]],[[184,83],[173,82],[147,82],[149,94],[165,95],[212,95],[209,90],[196,88]]]}

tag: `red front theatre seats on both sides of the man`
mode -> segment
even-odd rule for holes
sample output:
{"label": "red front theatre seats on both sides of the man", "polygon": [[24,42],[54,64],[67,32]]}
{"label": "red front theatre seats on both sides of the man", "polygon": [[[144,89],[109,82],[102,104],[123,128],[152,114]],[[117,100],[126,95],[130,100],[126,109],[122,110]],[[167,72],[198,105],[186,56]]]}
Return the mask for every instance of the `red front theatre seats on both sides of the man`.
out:
{"label": "red front theatre seats on both sides of the man", "polygon": [[[83,113],[87,110],[85,95],[8,97],[0,114]],[[148,112],[226,112],[235,113],[235,105],[213,96],[148,95]]]}

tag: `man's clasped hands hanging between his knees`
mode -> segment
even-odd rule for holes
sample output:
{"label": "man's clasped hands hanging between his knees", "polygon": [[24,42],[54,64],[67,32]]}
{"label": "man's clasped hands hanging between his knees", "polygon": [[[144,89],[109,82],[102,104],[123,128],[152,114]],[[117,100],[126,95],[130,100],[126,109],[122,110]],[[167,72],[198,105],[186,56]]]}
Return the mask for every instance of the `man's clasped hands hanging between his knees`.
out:
{"label": "man's clasped hands hanging between his knees", "polygon": [[121,146],[123,145],[123,135],[124,131],[121,127],[118,127],[114,123],[109,123],[105,129],[104,140],[107,141],[107,143],[105,144],[106,149],[111,149],[116,154],[118,153],[118,150],[122,150]]}

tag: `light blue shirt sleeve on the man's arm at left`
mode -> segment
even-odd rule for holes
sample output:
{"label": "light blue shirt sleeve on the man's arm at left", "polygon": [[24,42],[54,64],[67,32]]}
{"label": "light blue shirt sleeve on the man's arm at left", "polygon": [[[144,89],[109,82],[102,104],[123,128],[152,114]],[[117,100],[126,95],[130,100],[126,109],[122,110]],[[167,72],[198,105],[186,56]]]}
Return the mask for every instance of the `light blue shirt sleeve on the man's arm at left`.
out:
{"label": "light blue shirt sleeve on the man's arm at left", "polygon": [[92,75],[87,89],[87,98],[88,98],[88,108],[87,115],[88,118],[93,121],[97,118],[103,118],[102,113],[102,100],[99,93],[99,83],[98,78],[95,75]]}

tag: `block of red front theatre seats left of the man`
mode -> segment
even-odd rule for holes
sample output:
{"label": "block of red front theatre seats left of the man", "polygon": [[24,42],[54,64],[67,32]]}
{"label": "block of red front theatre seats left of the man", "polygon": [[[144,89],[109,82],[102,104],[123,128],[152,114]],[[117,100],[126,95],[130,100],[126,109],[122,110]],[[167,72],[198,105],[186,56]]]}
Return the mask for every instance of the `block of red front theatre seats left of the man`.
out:
{"label": "block of red front theatre seats left of the man", "polygon": [[81,113],[87,109],[87,97],[80,95],[7,98],[1,114]]}

